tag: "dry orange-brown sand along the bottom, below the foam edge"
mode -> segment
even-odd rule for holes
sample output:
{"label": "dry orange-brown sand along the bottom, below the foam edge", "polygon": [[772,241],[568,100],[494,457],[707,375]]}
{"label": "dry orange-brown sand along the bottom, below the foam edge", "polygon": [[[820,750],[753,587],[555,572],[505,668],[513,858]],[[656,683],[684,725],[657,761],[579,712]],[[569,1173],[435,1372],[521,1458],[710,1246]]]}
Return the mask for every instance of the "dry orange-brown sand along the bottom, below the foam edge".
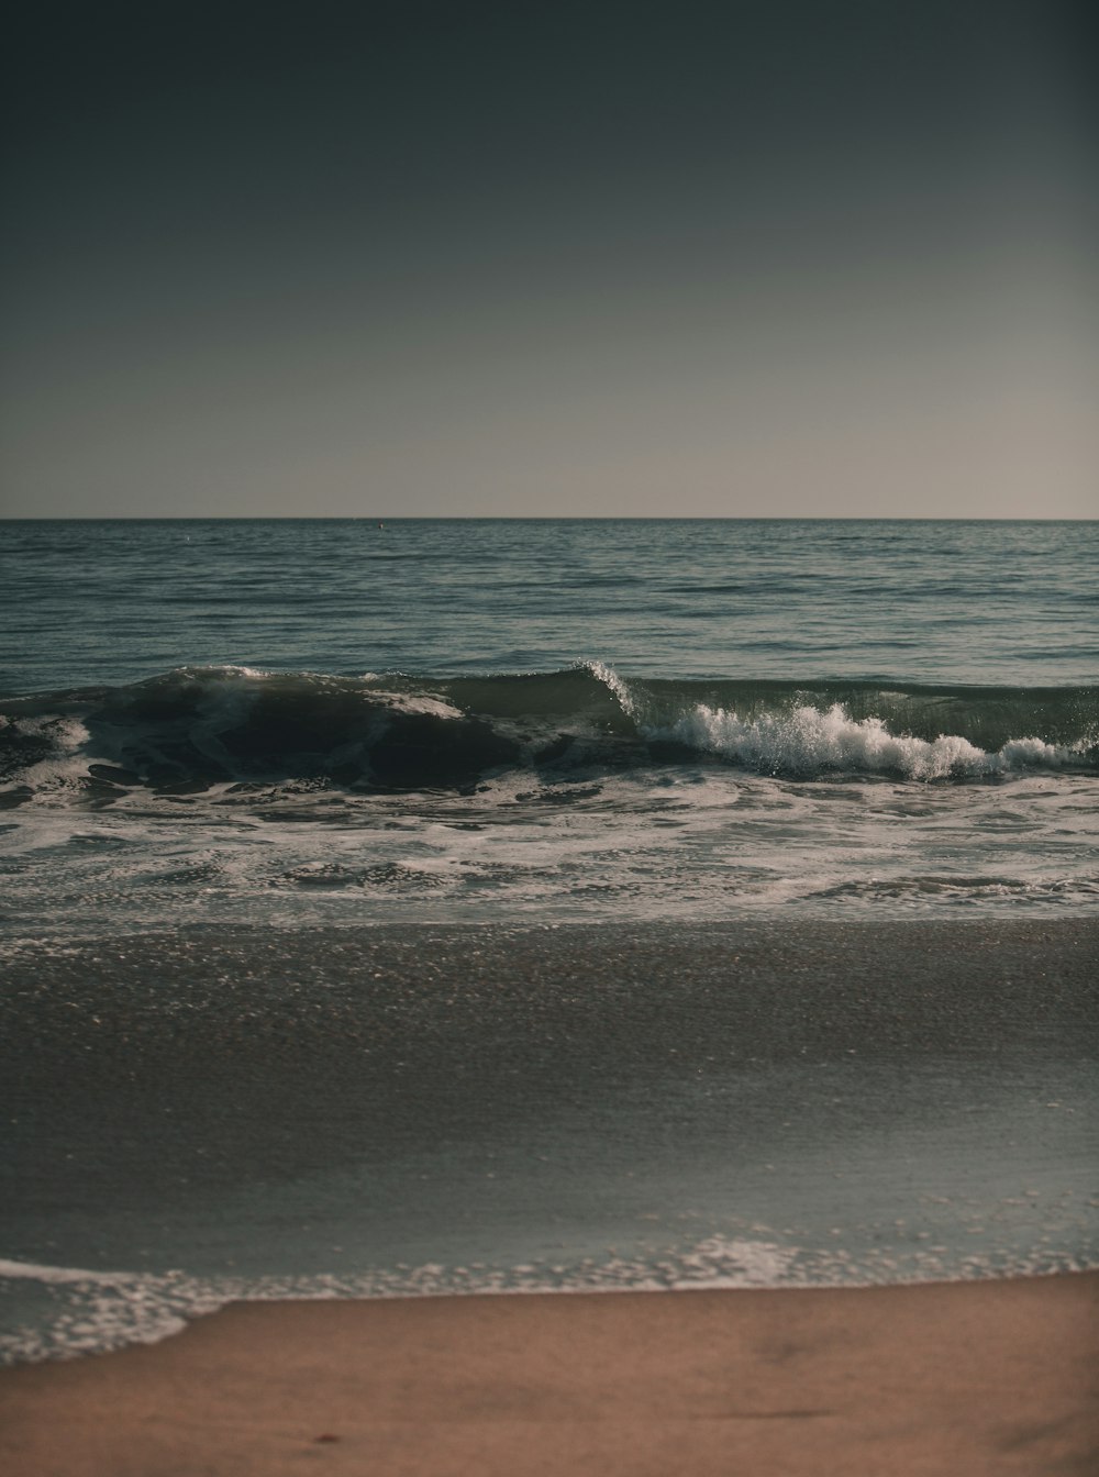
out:
{"label": "dry orange-brown sand along the bottom, below the foam edge", "polygon": [[244,1303],[0,1374],[6,1477],[1099,1471],[1099,1275]]}

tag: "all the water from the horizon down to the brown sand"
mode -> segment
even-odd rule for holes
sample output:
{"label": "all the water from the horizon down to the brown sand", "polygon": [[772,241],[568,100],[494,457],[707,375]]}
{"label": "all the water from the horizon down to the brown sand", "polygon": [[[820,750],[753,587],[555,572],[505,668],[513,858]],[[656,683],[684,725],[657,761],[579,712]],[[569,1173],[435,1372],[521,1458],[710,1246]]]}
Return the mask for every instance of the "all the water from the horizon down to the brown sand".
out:
{"label": "all the water from the horizon down to the brown sand", "polygon": [[1099,523],[0,523],[0,1357],[1099,1266]]}

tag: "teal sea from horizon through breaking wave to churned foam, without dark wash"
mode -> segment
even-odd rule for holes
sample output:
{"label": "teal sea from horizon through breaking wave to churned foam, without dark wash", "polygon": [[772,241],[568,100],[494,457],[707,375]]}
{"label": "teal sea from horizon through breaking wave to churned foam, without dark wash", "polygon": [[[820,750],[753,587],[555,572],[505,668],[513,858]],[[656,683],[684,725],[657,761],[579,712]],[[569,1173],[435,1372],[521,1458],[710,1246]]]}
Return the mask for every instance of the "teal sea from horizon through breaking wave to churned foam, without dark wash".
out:
{"label": "teal sea from horizon through breaking wave to churned foam, without dark wash", "polygon": [[9,933],[1093,910],[1096,523],[3,526]]}

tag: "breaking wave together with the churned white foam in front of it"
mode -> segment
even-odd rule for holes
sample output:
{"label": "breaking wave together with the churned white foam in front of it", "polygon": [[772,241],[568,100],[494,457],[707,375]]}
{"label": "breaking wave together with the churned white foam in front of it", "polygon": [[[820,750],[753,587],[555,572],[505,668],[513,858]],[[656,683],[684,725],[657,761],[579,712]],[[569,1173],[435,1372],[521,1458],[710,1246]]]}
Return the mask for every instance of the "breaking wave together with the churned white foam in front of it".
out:
{"label": "breaking wave together with the churned white foam in front of it", "polygon": [[0,700],[9,936],[1095,908],[1099,690],[185,668]]}

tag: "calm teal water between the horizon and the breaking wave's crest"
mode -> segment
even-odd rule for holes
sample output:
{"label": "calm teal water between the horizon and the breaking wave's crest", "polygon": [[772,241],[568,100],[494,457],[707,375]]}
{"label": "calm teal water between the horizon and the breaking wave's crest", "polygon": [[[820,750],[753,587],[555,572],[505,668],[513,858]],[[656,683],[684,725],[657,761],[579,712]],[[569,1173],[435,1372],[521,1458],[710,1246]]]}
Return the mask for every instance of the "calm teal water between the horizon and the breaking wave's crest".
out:
{"label": "calm teal water between the horizon and the breaking wave's crest", "polygon": [[1096,523],[0,524],[0,690],[179,666],[1096,681]]}

